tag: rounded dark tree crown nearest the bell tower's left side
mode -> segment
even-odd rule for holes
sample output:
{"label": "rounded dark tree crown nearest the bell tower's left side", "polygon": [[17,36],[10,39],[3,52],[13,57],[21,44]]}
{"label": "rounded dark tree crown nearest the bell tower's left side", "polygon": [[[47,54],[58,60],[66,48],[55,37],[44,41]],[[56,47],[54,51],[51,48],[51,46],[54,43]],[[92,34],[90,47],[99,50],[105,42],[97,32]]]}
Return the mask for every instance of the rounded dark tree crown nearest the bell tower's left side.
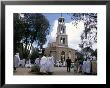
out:
{"label": "rounded dark tree crown nearest the bell tower's left side", "polygon": [[37,42],[37,45],[42,48],[47,40],[46,36],[49,34],[48,20],[40,13],[25,13],[24,19],[29,24],[29,27],[27,27],[29,43],[32,46],[33,42]]}

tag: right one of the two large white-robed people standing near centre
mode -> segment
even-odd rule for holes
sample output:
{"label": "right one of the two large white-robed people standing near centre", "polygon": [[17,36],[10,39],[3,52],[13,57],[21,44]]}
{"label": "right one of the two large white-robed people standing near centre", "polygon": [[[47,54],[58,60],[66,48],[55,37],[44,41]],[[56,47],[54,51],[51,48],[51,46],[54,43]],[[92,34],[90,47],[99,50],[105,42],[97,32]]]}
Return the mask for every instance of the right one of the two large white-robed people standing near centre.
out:
{"label": "right one of the two large white-robed people standing near centre", "polygon": [[54,71],[54,57],[48,57],[47,59],[47,72],[52,74]]}

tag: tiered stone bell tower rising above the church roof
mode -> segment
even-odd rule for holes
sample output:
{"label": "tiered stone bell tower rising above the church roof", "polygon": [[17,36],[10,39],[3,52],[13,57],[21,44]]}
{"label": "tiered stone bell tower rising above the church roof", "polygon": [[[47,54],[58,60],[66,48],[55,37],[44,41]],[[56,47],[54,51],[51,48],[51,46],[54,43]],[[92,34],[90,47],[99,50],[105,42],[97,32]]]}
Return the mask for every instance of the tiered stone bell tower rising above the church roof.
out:
{"label": "tiered stone bell tower rising above the church roof", "polygon": [[68,36],[66,35],[65,19],[62,17],[62,14],[58,19],[56,43],[58,46],[68,47]]}

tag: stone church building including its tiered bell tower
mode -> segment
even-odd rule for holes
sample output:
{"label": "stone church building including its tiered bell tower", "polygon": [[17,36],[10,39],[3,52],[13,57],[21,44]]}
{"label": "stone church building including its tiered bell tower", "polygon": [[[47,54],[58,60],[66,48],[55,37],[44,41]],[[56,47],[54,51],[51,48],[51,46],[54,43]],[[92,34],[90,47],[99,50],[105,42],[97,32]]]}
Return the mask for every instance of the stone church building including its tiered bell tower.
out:
{"label": "stone church building including its tiered bell tower", "polygon": [[72,62],[76,59],[75,50],[68,47],[65,19],[62,16],[58,19],[56,42],[48,43],[48,47],[45,48],[45,54],[50,54],[56,60],[60,60],[61,62],[64,62],[68,57]]}

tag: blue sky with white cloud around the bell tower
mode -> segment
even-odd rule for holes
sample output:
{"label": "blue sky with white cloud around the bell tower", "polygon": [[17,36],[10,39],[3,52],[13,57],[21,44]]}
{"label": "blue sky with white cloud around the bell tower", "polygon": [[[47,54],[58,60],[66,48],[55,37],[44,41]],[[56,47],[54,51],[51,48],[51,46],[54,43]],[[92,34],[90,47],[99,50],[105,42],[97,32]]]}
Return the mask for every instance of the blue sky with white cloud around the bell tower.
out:
{"label": "blue sky with white cloud around the bell tower", "polygon": [[[50,23],[50,34],[47,36],[47,42],[43,46],[47,47],[48,43],[56,41],[56,33],[58,26],[58,18],[61,17],[61,13],[44,13],[45,17]],[[71,16],[67,13],[63,13],[62,16],[65,18],[66,34],[68,35],[68,47],[75,50],[80,50],[78,44],[81,43],[80,35],[84,30],[84,23],[79,22],[77,26],[74,25],[74,21],[71,20]]]}

